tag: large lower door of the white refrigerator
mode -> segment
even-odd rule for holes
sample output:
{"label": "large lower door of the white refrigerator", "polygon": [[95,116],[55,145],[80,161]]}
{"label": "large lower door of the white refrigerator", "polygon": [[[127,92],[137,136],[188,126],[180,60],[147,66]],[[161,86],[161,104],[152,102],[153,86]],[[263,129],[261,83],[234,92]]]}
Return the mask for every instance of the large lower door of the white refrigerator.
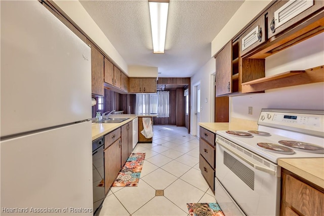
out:
{"label": "large lower door of the white refrigerator", "polygon": [[[84,208],[88,213],[82,215],[93,215],[91,143],[89,121],[1,141],[1,209],[76,215],[70,208]],[[62,211],[32,213],[31,208]]]}

